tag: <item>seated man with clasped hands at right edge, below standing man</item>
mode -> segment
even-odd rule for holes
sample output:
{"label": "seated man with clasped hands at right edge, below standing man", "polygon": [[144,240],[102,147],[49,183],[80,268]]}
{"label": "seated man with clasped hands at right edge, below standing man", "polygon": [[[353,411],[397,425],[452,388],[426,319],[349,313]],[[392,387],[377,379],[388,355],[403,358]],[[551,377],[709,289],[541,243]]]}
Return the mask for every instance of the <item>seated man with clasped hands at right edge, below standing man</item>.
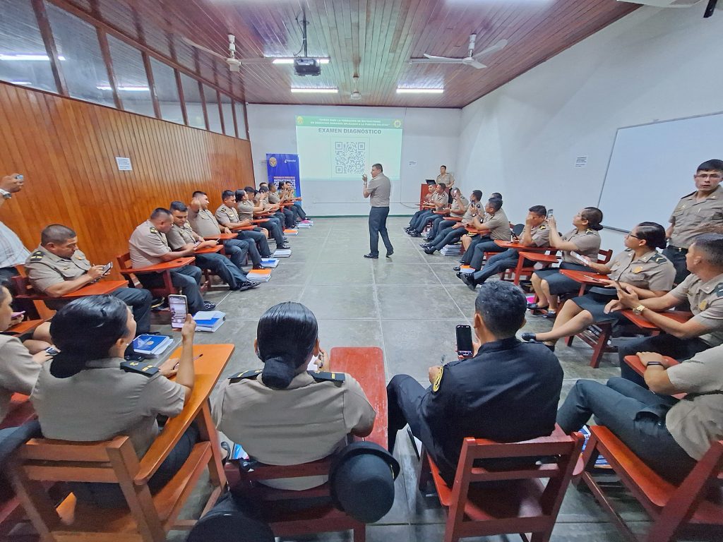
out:
{"label": "seated man with clasped hands at right edge, below standing man", "polygon": [[[619,301],[610,310],[633,309],[659,327],[663,333],[620,343],[620,374],[626,379],[645,385],[625,356],[637,352],[657,352],[678,361],[723,343],[723,235],[703,233],[690,245],[685,254],[690,275],[662,297],[641,299],[633,288],[618,288]],[[688,301],[693,318],[680,323],[656,311],[672,309]]]}

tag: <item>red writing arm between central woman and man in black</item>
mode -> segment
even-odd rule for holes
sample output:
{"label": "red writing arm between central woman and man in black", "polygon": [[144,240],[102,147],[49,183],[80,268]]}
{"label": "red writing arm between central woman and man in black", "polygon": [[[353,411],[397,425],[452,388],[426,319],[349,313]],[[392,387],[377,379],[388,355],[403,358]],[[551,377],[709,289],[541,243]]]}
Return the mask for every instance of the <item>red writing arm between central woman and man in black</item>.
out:
{"label": "red writing arm between central woman and man in black", "polygon": [[381,348],[337,347],[330,352],[329,369],[351,374],[361,385],[364,393],[377,412],[374,429],[364,440],[376,442],[382,448],[387,439],[387,387],[384,372],[384,354]]}

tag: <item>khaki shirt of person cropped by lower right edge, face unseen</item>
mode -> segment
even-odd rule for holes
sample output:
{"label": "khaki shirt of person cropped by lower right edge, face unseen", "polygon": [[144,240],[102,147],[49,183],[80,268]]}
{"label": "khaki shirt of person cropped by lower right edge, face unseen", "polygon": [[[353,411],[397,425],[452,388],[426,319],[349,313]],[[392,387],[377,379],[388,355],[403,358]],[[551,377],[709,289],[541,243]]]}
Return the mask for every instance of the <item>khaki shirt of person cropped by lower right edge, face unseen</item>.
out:
{"label": "khaki shirt of person cropped by lower right edge, face unseen", "polygon": [[688,395],[665,416],[665,426],[685,452],[700,460],[723,439],[723,347],[703,350],[667,369],[670,383]]}

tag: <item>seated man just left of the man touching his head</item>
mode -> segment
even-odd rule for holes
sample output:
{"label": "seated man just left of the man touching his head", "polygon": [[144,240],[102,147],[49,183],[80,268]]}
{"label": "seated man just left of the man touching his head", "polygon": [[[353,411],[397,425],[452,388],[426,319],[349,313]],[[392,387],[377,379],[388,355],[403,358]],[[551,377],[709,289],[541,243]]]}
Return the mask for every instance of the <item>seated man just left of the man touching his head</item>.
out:
{"label": "seated man just left of the man touching his head", "polygon": [[257,287],[258,283],[246,280],[246,273],[223,254],[218,252],[198,254],[197,251],[201,249],[216,246],[218,241],[204,241],[192,230],[188,223],[188,207],[183,202],[171,202],[171,215],[174,218],[174,225],[166,233],[166,240],[172,250],[194,249],[198,266],[209,269],[221,277],[231,291],[244,291]]}

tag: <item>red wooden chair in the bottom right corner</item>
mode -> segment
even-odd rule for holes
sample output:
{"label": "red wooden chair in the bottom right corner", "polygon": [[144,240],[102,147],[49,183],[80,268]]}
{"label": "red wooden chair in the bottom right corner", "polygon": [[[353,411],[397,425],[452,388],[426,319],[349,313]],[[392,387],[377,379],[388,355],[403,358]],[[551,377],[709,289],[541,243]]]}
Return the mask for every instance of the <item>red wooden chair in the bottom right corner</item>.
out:
{"label": "red wooden chair in the bottom right corner", "polygon": [[583,453],[585,470],[581,479],[610,515],[623,538],[631,542],[640,540],[615,511],[602,486],[594,478],[595,460],[600,454],[651,515],[653,525],[643,538],[646,542],[677,540],[681,531],[686,529],[710,535],[711,528],[718,533],[723,527],[720,499],[723,441],[712,442],[696,467],[679,486],[675,486],[643,463],[606,427],[592,426],[590,431],[591,436]]}

